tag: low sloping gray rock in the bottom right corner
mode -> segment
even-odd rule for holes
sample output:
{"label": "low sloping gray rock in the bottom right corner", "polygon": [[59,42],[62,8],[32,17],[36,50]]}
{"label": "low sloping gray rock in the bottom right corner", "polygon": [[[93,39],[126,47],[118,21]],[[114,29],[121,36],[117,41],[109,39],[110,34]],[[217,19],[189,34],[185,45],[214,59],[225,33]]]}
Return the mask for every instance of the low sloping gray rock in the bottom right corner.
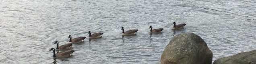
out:
{"label": "low sloping gray rock in the bottom right corner", "polygon": [[256,64],[256,50],[219,58],[213,64]]}

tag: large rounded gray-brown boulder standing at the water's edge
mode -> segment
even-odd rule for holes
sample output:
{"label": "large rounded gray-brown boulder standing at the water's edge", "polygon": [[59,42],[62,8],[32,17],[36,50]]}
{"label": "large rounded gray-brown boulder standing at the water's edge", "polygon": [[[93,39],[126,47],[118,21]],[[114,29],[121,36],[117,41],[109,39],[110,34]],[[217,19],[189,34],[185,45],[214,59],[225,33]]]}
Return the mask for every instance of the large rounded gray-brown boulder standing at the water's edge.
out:
{"label": "large rounded gray-brown boulder standing at the water's edge", "polygon": [[174,36],[161,55],[161,64],[212,64],[212,61],[212,51],[194,33]]}

